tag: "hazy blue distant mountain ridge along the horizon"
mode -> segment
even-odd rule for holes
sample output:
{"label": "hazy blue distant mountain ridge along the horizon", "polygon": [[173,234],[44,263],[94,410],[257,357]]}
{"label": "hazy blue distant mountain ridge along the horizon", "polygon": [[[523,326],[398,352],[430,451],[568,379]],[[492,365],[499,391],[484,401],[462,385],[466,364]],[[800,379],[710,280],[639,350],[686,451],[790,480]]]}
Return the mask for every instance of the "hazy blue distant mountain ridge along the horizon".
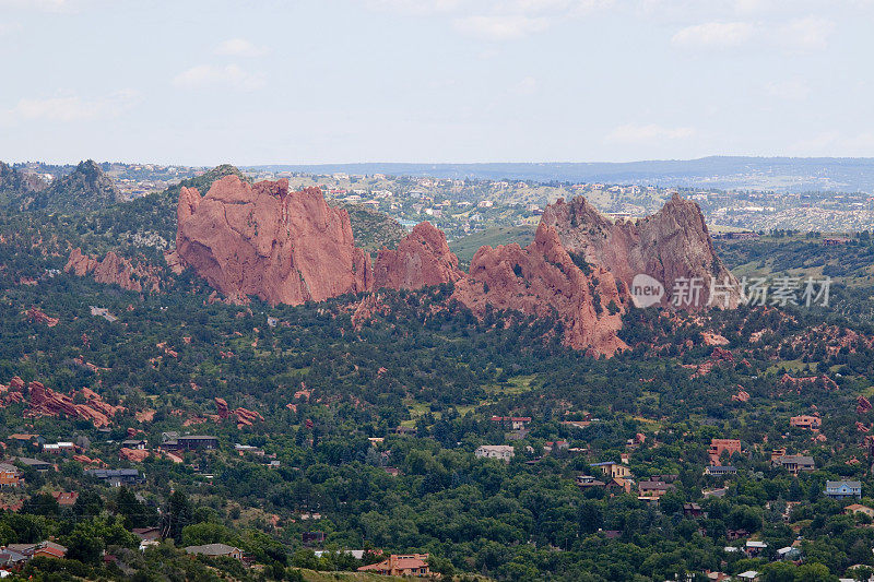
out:
{"label": "hazy blue distant mountain ridge along the horizon", "polygon": [[874,191],[874,157],[709,156],[589,163],[298,164],[246,169],[309,174],[389,174],[540,182],[606,182],[784,191]]}

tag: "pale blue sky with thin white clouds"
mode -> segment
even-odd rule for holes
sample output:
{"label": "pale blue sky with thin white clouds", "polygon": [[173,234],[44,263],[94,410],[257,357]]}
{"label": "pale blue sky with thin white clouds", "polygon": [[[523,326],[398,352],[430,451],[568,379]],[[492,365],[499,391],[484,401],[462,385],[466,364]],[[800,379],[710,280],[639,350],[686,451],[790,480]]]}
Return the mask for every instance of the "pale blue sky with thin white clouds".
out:
{"label": "pale blue sky with thin white clouds", "polygon": [[0,0],[0,159],[874,156],[874,0]]}

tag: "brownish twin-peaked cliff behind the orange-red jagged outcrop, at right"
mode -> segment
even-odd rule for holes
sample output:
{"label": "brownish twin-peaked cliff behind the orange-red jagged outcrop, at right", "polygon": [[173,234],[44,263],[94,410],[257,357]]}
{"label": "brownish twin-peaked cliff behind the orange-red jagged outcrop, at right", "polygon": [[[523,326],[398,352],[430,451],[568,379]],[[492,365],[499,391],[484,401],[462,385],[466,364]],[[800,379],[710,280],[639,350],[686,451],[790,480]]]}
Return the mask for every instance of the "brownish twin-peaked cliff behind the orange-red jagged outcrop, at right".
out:
{"label": "brownish twin-peaked cliff behind the orange-red jagged outcrop, at right", "polygon": [[[728,277],[734,289],[729,307],[737,305],[737,282],[717,257],[700,209],[677,194],[652,216],[616,224],[582,197],[569,203],[559,199],[546,207],[541,223],[555,228],[568,252],[582,254],[626,285],[639,273],[659,280],[665,289],[662,305],[671,304],[674,282],[700,277],[704,283],[697,307],[705,307],[711,276],[720,284]],[[714,304],[723,306],[724,296],[716,296]]]}

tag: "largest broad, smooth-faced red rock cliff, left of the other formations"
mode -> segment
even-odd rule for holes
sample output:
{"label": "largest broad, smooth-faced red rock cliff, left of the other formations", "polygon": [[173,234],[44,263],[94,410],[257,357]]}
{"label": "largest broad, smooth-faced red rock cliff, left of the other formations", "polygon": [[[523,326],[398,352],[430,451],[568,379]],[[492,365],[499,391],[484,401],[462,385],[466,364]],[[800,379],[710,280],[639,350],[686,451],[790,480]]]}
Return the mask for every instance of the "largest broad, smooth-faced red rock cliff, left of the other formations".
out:
{"label": "largest broad, smooth-faced red rock cliff, left of the other formations", "polygon": [[288,192],[288,181],[249,185],[236,176],[200,198],[184,188],[176,257],[232,299],[320,301],[368,290],[370,257],[355,247],[349,213],[318,188]]}

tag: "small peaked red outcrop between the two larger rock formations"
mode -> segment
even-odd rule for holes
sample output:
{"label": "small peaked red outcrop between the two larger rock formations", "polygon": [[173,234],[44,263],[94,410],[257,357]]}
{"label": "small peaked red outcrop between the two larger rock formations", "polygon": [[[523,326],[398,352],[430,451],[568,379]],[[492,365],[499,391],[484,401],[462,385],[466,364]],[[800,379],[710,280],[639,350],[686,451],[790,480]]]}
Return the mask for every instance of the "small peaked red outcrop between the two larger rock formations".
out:
{"label": "small peaked red outcrop between the two larger rock formations", "polygon": [[430,223],[420,223],[395,250],[382,249],[374,266],[374,288],[417,289],[460,280],[458,257],[446,235]]}

